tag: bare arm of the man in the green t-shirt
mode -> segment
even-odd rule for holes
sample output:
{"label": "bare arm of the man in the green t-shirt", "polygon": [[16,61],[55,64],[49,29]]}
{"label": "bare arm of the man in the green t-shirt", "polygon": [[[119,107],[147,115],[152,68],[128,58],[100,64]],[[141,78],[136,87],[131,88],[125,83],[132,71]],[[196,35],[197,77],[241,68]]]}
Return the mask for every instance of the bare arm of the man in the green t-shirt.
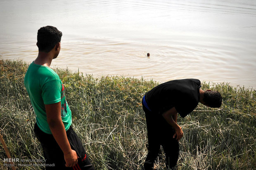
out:
{"label": "bare arm of the man in the green t-shirt", "polygon": [[77,164],[76,151],[72,150],[66,136],[66,130],[61,118],[60,102],[45,105],[47,122],[53,137],[64,153],[66,167],[73,167]]}

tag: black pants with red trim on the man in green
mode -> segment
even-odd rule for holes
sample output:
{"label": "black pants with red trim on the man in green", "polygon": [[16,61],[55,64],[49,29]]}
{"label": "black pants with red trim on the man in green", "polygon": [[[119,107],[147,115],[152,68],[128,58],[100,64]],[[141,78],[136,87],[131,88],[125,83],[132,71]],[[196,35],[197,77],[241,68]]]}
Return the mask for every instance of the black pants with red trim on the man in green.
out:
{"label": "black pants with red trim on the man in green", "polygon": [[[93,165],[90,163],[90,160],[83,148],[83,144],[81,140],[78,138],[76,133],[73,131],[73,128],[70,128],[66,131],[66,136],[69,140],[69,144],[71,149],[76,151],[78,155],[78,163],[74,167],[66,167],[64,154],[62,149],[60,149],[57,144],[55,138],[52,134],[44,133],[37,124],[35,124],[34,132],[36,134],[36,138],[40,141],[43,147],[43,154],[46,159],[45,161],[45,169],[61,169],[61,170],[94,170]],[[49,166],[48,166],[49,165]],[[54,165],[52,167],[51,165]]]}

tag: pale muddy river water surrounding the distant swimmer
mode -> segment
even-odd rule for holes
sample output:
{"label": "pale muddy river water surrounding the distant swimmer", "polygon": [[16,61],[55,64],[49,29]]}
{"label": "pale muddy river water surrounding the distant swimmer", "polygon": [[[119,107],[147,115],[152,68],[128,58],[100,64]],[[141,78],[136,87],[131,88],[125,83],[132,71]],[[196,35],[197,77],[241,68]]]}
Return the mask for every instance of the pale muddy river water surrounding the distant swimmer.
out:
{"label": "pale muddy river water surrounding the distant swimmer", "polygon": [[32,62],[46,25],[63,33],[52,67],[256,87],[256,0],[0,0],[0,59]]}

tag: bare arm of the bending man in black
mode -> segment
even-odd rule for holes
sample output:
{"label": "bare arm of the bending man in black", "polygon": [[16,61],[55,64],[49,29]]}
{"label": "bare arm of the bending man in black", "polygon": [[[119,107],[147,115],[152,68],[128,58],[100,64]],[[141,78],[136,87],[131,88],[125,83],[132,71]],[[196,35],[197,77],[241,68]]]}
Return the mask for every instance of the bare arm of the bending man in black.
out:
{"label": "bare arm of the bending man in black", "polygon": [[179,141],[180,138],[183,137],[183,131],[182,131],[181,127],[177,124],[178,112],[175,109],[175,107],[173,107],[170,110],[167,110],[166,112],[164,112],[162,114],[162,116],[164,117],[164,119],[166,119],[166,122],[168,122],[168,124],[173,126],[173,128],[175,130],[175,134],[173,135],[173,138],[175,138],[175,136],[177,136],[176,139]]}

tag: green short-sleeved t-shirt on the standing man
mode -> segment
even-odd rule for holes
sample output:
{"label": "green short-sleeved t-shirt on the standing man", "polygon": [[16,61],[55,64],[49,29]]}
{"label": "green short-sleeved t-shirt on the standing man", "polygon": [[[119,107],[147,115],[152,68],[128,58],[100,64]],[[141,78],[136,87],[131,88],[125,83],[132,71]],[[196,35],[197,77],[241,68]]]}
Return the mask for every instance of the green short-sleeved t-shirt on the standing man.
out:
{"label": "green short-sleeved t-shirt on the standing man", "polygon": [[71,125],[71,110],[66,102],[64,85],[59,76],[50,69],[32,62],[26,72],[24,85],[28,92],[39,128],[48,134],[52,134],[47,123],[45,104],[61,102],[61,117],[65,129]]}

